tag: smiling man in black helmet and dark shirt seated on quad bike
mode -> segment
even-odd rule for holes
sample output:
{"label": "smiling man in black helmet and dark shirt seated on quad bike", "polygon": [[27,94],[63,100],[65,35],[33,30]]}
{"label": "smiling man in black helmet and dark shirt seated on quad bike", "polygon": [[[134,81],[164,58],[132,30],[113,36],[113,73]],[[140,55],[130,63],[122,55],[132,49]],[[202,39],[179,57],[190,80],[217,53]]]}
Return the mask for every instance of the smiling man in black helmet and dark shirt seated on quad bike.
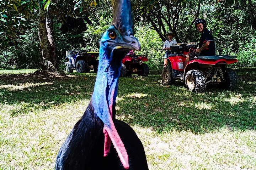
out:
{"label": "smiling man in black helmet and dark shirt seated on quad bike", "polygon": [[184,66],[186,67],[187,62],[193,60],[194,56],[197,56],[200,52],[200,56],[214,56],[215,55],[215,44],[212,33],[207,29],[206,21],[202,18],[198,18],[195,22],[195,27],[201,33],[199,40],[199,48],[187,54]]}

